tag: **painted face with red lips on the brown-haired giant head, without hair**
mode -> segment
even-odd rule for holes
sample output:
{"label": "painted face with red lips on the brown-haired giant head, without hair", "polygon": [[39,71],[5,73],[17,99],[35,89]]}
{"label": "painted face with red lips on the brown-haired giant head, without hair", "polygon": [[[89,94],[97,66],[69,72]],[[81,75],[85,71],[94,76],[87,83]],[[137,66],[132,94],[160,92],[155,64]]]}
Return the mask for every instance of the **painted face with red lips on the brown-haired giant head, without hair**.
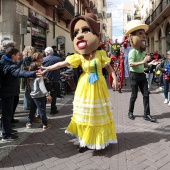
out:
{"label": "painted face with red lips on the brown-haired giant head, without hair", "polygon": [[79,54],[90,54],[99,46],[99,38],[93,34],[85,20],[78,20],[74,26],[74,48]]}

